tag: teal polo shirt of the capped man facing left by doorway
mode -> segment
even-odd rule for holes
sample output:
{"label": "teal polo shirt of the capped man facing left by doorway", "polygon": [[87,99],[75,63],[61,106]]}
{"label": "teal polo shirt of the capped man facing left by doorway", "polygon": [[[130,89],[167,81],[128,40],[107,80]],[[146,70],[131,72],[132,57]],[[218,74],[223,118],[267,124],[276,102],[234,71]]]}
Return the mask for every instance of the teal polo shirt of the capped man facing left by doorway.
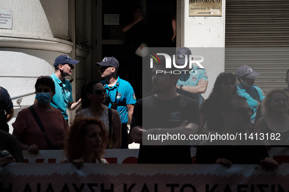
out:
{"label": "teal polo shirt of the capped man facing left by doorway", "polygon": [[[107,95],[110,96],[111,102],[115,102],[116,99],[116,111],[119,114],[121,123],[128,123],[127,105],[133,105],[136,103],[132,85],[128,81],[119,77],[117,77],[117,81],[113,87],[109,87],[106,80],[101,81],[101,84],[103,84],[104,88],[107,89]],[[111,108],[111,103],[108,107]]]}

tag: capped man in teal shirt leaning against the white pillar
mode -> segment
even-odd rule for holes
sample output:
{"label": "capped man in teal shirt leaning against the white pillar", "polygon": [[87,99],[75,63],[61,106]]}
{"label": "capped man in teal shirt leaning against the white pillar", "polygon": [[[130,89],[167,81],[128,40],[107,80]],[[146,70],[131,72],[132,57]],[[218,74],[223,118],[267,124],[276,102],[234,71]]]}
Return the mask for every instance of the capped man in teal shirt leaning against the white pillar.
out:
{"label": "capped man in teal shirt leaning against the white pillar", "polygon": [[[184,70],[189,69],[189,56],[192,55],[192,52],[187,47],[181,47],[177,51],[178,65],[184,65],[187,62]],[[199,66],[193,66],[192,69],[189,69],[189,73],[181,73],[177,82],[177,87],[179,89],[191,92],[193,94],[199,95],[199,105],[202,103],[202,96],[207,90],[208,86],[208,75],[206,70],[200,68]]]}

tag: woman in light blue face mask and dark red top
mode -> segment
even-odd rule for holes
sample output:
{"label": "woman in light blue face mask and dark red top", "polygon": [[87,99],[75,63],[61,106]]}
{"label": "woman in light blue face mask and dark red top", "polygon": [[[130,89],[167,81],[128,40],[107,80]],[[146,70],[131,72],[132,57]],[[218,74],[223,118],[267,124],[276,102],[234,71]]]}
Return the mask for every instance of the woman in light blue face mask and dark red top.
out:
{"label": "woman in light blue face mask and dark red top", "polygon": [[12,124],[22,150],[38,154],[39,150],[63,149],[67,122],[62,113],[50,106],[55,94],[51,77],[41,76],[35,84],[37,103],[19,112]]}

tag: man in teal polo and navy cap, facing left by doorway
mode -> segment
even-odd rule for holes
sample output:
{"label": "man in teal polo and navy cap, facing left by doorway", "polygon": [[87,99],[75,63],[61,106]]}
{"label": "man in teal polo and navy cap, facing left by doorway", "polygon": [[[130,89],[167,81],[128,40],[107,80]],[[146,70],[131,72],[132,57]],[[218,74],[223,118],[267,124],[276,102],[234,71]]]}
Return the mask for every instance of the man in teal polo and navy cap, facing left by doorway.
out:
{"label": "man in teal polo and navy cap, facing left by doorway", "polygon": [[118,76],[116,72],[119,63],[114,57],[106,57],[101,62],[95,63],[101,66],[99,72],[106,80],[101,81],[107,89],[105,105],[115,109],[121,120],[121,146],[120,149],[128,149],[128,119],[132,120],[133,105],[136,102],[132,85]]}

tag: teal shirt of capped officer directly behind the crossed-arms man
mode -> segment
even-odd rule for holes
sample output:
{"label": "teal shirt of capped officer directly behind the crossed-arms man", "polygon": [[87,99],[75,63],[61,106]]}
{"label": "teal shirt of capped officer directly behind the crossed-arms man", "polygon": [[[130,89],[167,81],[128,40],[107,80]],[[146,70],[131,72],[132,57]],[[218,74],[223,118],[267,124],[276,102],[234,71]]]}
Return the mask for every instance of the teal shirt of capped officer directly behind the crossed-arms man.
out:
{"label": "teal shirt of capped officer directly behind the crossed-arms man", "polygon": [[[201,69],[199,66],[194,66],[190,72],[186,71],[186,74],[184,74],[184,72],[180,74],[177,85],[196,86],[198,85],[200,79],[208,81],[207,72],[205,69]],[[202,97],[201,94],[199,94],[199,101],[201,102],[201,100]]]}

